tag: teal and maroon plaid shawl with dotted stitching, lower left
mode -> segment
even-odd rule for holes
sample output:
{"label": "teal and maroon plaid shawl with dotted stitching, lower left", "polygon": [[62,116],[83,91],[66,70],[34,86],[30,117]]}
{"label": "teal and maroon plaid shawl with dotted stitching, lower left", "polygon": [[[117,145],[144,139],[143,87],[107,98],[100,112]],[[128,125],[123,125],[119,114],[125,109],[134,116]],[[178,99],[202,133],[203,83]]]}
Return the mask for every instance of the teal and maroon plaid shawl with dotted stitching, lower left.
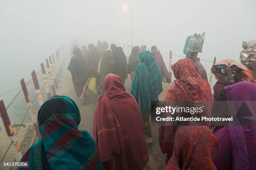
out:
{"label": "teal and maroon plaid shawl with dotted stitching, lower left", "polygon": [[38,111],[41,139],[20,161],[29,161],[32,170],[84,170],[102,167],[100,153],[92,136],[78,130],[80,112],[67,96],[53,96]]}

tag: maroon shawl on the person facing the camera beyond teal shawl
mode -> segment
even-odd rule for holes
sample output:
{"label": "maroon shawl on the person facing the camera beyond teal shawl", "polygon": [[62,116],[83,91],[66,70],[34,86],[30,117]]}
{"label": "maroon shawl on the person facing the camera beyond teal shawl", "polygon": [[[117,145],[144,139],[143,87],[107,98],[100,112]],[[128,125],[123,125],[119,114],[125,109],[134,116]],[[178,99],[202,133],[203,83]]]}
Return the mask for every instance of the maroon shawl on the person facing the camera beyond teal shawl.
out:
{"label": "maroon shawl on the person facing the camera beyond teal shawl", "polygon": [[160,72],[161,72],[161,76],[166,77],[167,79],[171,80],[171,74],[168,72],[166,65],[164,63],[164,59],[163,56],[161,55],[161,53],[159,51],[156,52],[152,52],[154,59],[156,60],[156,64],[158,65]]}

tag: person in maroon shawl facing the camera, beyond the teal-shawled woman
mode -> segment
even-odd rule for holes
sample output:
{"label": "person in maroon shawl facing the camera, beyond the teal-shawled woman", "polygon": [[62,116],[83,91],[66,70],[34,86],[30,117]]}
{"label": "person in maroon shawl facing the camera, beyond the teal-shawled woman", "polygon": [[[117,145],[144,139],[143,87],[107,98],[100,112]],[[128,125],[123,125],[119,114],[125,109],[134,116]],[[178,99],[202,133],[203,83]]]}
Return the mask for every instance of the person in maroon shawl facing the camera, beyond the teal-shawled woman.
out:
{"label": "person in maroon shawl facing the camera, beyond the teal-shawled woman", "polygon": [[156,60],[156,64],[158,65],[158,67],[160,69],[161,76],[165,77],[166,82],[171,82],[171,75],[169,74],[169,72],[166,68],[163,56],[161,55],[161,53],[159,51],[157,51],[156,45],[153,45],[151,47],[151,52],[154,56],[154,59]]}

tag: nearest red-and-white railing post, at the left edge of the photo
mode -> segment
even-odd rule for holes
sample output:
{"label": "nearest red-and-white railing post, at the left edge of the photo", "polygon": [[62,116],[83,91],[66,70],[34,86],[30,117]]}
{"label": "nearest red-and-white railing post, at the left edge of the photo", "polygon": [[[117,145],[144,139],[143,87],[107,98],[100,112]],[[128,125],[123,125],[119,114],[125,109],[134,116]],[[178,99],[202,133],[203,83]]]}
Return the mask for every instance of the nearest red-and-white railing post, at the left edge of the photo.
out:
{"label": "nearest red-and-white railing post, at the left edge of the photo", "polygon": [[12,140],[12,146],[15,150],[15,160],[16,162],[19,162],[20,159],[22,158],[21,152],[20,152],[20,145],[18,143],[18,141],[16,140],[16,136],[13,132],[13,126],[10,123],[10,119],[9,116],[7,114],[7,111],[5,109],[5,104],[3,102],[3,100],[0,101],[0,115],[2,117],[3,120],[3,124],[5,125],[5,130],[6,133],[8,135],[8,137]]}

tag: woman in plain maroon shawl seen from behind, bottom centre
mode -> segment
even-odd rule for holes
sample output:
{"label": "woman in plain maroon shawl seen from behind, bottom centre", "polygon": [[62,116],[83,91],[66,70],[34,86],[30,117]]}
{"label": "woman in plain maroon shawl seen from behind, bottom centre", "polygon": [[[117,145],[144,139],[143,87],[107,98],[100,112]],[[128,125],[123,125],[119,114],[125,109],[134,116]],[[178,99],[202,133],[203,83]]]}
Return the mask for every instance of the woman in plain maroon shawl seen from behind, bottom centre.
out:
{"label": "woman in plain maroon shawl seen from behind, bottom centre", "polygon": [[139,106],[118,75],[108,74],[97,103],[93,135],[105,170],[139,170],[148,161]]}

